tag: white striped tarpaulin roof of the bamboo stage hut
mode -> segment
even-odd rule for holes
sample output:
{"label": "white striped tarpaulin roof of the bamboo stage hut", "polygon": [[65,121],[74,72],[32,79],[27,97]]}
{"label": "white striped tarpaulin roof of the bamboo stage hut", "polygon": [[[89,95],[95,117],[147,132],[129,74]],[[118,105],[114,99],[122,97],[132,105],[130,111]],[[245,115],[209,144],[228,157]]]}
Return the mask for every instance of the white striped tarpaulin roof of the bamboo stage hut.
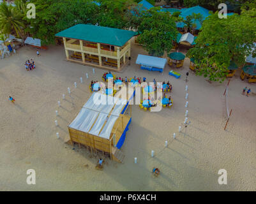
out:
{"label": "white striped tarpaulin roof of the bamboo stage hut", "polygon": [[124,99],[94,92],[69,127],[109,139],[112,128],[126,103]]}

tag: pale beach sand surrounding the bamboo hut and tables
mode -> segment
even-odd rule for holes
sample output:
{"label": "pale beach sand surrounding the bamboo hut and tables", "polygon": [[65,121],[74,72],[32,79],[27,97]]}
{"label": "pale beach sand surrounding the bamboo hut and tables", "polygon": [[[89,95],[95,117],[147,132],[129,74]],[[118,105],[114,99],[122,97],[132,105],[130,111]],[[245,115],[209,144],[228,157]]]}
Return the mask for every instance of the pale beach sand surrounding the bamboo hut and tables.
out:
{"label": "pale beach sand surrounding the bamboo hut and tables", "polygon": [[[135,64],[142,47],[132,46],[132,63],[117,76],[147,77],[147,81],[169,80],[173,85],[174,106],[161,112],[144,112],[132,107],[132,123],[121,150],[124,163],[105,158],[103,171],[94,166],[100,156],[85,148],[65,143],[67,125],[91,96],[91,78],[100,80],[104,70],[66,62],[64,48],[49,47],[36,56],[36,50],[23,47],[0,61],[0,190],[1,191],[255,191],[256,190],[256,97],[241,95],[256,84],[239,78],[230,80],[229,108],[233,109],[227,130],[223,91],[225,84],[209,83],[188,69],[189,59],[177,70],[182,77],[141,70]],[[26,71],[26,59],[36,62],[36,70]],[[176,70],[176,69],[174,69]],[[188,117],[190,126],[178,133],[184,121],[185,73],[189,72]],[[85,73],[89,73],[86,80]],[[79,78],[85,82],[80,84]],[[77,82],[77,89],[73,83]],[[62,99],[72,89],[71,98]],[[15,105],[8,96],[16,99]],[[58,107],[57,101],[61,101]],[[59,111],[56,117],[55,110]],[[56,127],[54,120],[58,120]],[[59,132],[60,138],[56,138]],[[174,140],[172,135],[176,133]],[[165,148],[165,140],[169,145]],[[154,157],[151,157],[154,150]],[[138,163],[134,164],[134,157]],[[153,167],[161,174],[153,178]],[[36,171],[36,185],[27,185],[26,171]],[[218,184],[218,170],[227,170],[227,185]]]}

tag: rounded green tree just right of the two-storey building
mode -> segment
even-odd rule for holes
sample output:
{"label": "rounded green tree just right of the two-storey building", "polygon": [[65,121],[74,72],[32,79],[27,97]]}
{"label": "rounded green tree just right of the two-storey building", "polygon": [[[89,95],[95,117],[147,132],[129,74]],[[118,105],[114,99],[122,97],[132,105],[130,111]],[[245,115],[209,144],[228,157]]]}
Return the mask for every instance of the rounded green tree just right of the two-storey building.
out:
{"label": "rounded green tree just right of the two-storey building", "polygon": [[139,25],[138,40],[144,45],[149,55],[162,56],[170,52],[173,41],[177,37],[176,23],[168,12],[161,12],[159,8],[146,11]]}

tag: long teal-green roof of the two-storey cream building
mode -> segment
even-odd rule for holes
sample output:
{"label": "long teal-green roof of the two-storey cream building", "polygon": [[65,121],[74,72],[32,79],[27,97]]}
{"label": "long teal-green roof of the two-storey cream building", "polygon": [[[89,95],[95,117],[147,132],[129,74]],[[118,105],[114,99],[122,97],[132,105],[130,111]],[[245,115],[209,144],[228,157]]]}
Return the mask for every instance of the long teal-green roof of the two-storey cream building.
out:
{"label": "long teal-green roof of the two-storey cream building", "polygon": [[77,24],[57,33],[55,36],[122,47],[135,35],[137,35],[136,32],[116,29],[112,27]]}

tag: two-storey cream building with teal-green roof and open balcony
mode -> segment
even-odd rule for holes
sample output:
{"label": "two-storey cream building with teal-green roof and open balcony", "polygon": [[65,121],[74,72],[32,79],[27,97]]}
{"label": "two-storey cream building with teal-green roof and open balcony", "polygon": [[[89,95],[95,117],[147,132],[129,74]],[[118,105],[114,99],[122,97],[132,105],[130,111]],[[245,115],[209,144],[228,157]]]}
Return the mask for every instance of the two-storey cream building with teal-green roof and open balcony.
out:
{"label": "two-storey cream building with teal-green roof and open balcony", "polygon": [[63,38],[66,59],[89,66],[121,71],[137,33],[89,24],[74,25],[56,34]]}

